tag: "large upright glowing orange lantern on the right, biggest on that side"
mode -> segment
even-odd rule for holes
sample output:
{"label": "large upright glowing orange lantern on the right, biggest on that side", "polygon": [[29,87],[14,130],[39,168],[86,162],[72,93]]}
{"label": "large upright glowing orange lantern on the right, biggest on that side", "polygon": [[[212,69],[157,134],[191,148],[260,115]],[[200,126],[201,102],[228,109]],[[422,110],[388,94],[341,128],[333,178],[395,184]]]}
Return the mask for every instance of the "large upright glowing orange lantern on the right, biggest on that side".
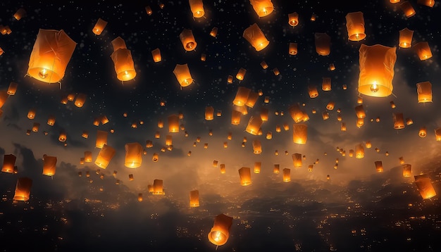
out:
{"label": "large upright glowing orange lantern on the right, biggest on that side", "polygon": [[380,44],[359,49],[359,93],[368,96],[385,97],[392,94],[394,65],[397,61],[396,47]]}

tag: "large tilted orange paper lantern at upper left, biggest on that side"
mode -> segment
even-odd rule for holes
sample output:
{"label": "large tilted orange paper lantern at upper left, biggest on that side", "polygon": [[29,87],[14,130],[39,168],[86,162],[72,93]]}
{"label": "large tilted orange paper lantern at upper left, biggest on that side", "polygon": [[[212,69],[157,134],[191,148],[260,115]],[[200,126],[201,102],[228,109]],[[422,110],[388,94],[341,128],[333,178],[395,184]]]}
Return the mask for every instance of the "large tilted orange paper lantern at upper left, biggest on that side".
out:
{"label": "large tilted orange paper lantern at upper left, biggest on that side", "polygon": [[60,82],[76,45],[63,30],[40,29],[30,54],[27,75],[46,83]]}

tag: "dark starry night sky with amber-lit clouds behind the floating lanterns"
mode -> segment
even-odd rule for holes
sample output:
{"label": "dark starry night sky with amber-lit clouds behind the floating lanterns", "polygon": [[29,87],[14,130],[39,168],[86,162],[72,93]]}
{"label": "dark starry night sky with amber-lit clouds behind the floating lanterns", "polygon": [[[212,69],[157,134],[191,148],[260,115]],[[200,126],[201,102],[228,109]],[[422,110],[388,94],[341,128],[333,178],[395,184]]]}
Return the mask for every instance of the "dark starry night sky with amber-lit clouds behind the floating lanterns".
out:
{"label": "dark starry night sky with amber-lit clouds behind the floating lanterns", "polygon": [[[203,0],[204,17],[194,18],[188,1],[2,1],[0,27],[11,32],[0,34],[0,94],[11,82],[18,86],[0,103],[0,163],[13,154],[17,167],[0,172],[1,251],[215,251],[207,236],[221,213],[233,220],[218,251],[440,251],[439,196],[423,199],[414,178],[427,175],[440,194],[440,4],[409,0],[416,14],[406,17],[402,2],[273,0],[274,11],[259,18],[250,1]],[[17,20],[20,8],[25,15]],[[349,41],[345,16],[358,11],[366,38]],[[295,27],[288,23],[293,12],[299,15]],[[99,18],[107,25],[97,35],[92,28]],[[269,41],[261,51],[242,36],[254,23]],[[412,46],[428,43],[431,58],[420,60],[414,48],[399,47],[404,28],[414,31]],[[63,30],[76,43],[59,83],[27,74],[40,29]],[[192,30],[192,51],[180,42],[183,30]],[[316,52],[315,34],[321,33],[330,37],[327,56]],[[132,55],[132,80],[116,76],[111,54],[117,37]],[[290,43],[297,43],[296,55]],[[396,48],[389,96],[359,93],[361,44]],[[152,58],[154,49],[161,51],[160,62]],[[177,64],[190,70],[187,87],[173,74]],[[247,72],[238,80],[241,68]],[[330,91],[322,89],[326,78]],[[432,84],[433,101],[418,103],[421,82]],[[309,96],[313,86],[315,98]],[[261,96],[233,125],[240,87]],[[75,99],[61,102],[78,94],[87,97],[82,107]],[[294,121],[290,107],[296,104],[309,120]],[[359,127],[360,105],[366,118]],[[213,120],[206,120],[210,106]],[[35,118],[29,119],[32,109]],[[264,110],[262,134],[247,132],[249,120]],[[394,128],[398,113],[406,122],[402,129]],[[180,115],[179,132],[168,132],[170,115]],[[54,125],[47,124],[51,116]],[[104,117],[107,123],[94,125]],[[307,125],[306,144],[293,141],[298,124]],[[421,127],[426,137],[418,135]],[[59,140],[61,132],[66,141]],[[94,164],[99,132],[108,133],[106,144],[116,151],[106,168]],[[167,135],[173,139],[168,148]],[[261,142],[261,153],[254,153],[253,141]],[[125,166],[128,143],[142,146],[138,168]],[[350,155],[359,145],[363,158]],[[85,151],[92,162],[80,162]],[[299,168],[294,153],[302,154]],[[52,176],[42,174],[45,156],[57,158]],[[404,165],[411,165],[411,176],[404,177]],[[247,186],[240,183],[243,167],[251,170]],[[290,182],[283,181],[286,168]],[[13,200],[20,177],[32,179],[28,201]],[[149,192],[155,179],[163,180],[163,195]],[[190,207],[193,190],[199,207]]]}

